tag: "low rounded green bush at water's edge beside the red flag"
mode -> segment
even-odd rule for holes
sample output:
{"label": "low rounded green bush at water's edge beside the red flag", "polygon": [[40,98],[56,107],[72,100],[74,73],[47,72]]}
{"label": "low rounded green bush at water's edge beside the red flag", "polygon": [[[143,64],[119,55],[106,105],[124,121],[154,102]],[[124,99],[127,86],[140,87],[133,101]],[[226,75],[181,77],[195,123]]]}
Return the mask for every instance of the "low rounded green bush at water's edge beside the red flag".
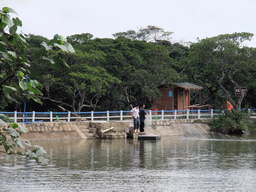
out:
{"label": "low rounded green bush at water's edge beside the red flag", "polygon": [[256,128],[245,110],[220,113],[209,125],[210,131],[224,134],[242,134]]}

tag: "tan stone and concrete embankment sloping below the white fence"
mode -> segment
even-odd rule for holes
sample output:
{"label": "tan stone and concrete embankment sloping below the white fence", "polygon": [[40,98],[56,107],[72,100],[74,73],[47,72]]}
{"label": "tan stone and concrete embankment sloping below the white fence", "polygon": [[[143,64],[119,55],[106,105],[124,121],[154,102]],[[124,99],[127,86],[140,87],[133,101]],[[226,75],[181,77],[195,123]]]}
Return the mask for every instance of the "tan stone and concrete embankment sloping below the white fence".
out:
{"label": "tan stone and concrete embankment sloping below the white fence", "polygon": [[[133,127],[132,121],[110,122],[53,122],[26,124],[27,133],[21,135],[21,139],[35,140],[59,140],[94,138],[97,125],[107,132],[105,138],[126,138],[126,133]],[[183,136],[186,134],[205,134],[209,127],[205,122],[196,123],[191,120],[157,120],[146,122],[145,133],[147,135]]]}

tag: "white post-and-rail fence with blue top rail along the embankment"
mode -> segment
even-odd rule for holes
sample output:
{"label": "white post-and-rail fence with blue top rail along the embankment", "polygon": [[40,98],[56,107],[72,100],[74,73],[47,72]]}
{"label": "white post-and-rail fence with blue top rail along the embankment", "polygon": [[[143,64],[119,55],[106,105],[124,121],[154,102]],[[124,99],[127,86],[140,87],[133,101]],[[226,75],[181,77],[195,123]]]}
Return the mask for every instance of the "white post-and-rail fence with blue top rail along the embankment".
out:
{"label": "white post-and-rail fence with blue top rail along the embankment", "polygon": [[[151,120],[166,119],[209,119],[218,115],[220,110],[173,110],[173,111],[148,111]],[[251,116],[256,115],[254,110],[248,111]],[[76,121],[76,115],[89,121],[124,121],[131,120],[130,111],[102,111],[102,112],[0,112],[12,119],[14,122],[54,122],[54,121]]]}

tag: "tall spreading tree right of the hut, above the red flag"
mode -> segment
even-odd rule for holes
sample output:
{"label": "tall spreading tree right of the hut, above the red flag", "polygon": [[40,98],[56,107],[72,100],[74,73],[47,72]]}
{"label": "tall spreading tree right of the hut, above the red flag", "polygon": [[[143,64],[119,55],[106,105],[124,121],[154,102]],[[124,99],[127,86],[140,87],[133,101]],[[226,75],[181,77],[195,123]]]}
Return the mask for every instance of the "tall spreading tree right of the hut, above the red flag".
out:
{"label": "tall spreading tree right of the hut, above the red flag", "polygon": [[209,90],[221,91],[225,100],[240,109],[244,93],[235,98],[234,87],[240,89],[245,86],[252,75],[250,69],[255,66],[255,51],[243,46],[243,42],[250,41],[252,37],[251,33],[233,33],[191,44],[187,73]]}

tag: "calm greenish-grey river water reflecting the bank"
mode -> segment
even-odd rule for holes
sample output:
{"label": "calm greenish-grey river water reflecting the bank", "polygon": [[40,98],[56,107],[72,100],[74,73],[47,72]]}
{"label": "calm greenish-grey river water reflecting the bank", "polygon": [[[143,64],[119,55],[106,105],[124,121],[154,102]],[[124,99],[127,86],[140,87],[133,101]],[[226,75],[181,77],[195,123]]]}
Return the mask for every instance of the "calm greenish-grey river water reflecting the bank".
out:
{"label": "calm greenish-grey river water reflecting the bank", "polygon": [[0,159],[0,191],[256,191],[256,137],[36,142],[48,165]]}

